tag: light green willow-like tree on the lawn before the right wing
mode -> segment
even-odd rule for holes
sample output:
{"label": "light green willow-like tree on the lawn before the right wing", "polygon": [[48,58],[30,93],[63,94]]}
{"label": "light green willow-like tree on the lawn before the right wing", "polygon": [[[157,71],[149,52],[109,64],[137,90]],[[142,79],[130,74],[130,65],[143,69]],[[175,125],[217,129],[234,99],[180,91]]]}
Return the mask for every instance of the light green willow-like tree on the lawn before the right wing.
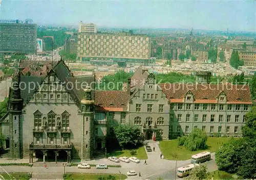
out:
{"label": "light green willow-like tree on the lawn before the right wing", "polygon": [[188,136],[183,136],[179,138],[178,144],[183,145],[186,149],[190,151],[195,151],[199,149],[206,149],[206,142],[206,133],[199,128],[194,128],[194,130]]}

